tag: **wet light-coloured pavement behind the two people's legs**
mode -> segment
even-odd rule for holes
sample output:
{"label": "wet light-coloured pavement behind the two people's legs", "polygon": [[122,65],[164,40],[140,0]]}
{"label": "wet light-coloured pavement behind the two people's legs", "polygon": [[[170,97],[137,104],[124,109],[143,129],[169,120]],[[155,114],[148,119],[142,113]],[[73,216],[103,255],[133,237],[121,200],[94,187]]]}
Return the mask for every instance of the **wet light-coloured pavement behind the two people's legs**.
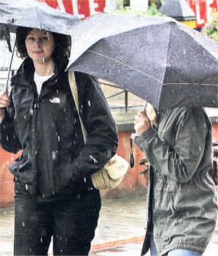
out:
{"label": "wet light-coloured pavement behind the two people's legs", "polygon": [[[145,195],[102,200],[90,256],[140,255],[144,238]],[[0,209],[0,255],[13,255],[13,208]],[[52,255],[50,246],[49,255]],[[203,256],[217,256],[218,226]],[[149,253],[147,253],[149,256]]]}

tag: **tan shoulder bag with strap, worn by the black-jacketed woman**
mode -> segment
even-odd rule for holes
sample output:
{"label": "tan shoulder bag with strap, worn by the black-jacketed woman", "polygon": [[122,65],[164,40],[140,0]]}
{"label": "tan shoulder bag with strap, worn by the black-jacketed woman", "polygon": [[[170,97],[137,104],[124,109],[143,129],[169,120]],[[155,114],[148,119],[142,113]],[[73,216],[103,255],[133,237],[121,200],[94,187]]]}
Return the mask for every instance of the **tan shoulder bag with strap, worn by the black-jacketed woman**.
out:
{"label": "tan shoulder bag with strap, worn by the black-jacketed woman", "polygon": [[[75,80],[74,71],[69,71],[69,84],[79,115],[77,83]],[[79,120],[82,126],[82,135],[86,143],[87,132],[80,116]],[[109,162],[107,162],[106,165],[104,165],[104,167],[101,168],[101,170],[98,170],[91,176],[93,186],[96,189],[114,189],[121,183],[123,177],[125,176],[125,173],[128,170],[128,166],[129,164],[125,159],[115,154],[114,157],[109,159]]]}

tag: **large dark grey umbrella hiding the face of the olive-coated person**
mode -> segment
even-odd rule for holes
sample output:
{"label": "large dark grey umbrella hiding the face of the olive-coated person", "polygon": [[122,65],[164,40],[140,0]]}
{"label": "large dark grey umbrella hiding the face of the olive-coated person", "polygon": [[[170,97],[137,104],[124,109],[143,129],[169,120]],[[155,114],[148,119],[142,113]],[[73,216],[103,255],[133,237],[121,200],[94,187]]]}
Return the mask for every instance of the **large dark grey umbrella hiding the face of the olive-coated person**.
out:
{"label": "large dark grey umbrella hiding the face of the olive-coated person", "polygon": [[74,26],[68,69],[108,80],[156,109],[218,107],[218,44],[172,18],[101,13]]}

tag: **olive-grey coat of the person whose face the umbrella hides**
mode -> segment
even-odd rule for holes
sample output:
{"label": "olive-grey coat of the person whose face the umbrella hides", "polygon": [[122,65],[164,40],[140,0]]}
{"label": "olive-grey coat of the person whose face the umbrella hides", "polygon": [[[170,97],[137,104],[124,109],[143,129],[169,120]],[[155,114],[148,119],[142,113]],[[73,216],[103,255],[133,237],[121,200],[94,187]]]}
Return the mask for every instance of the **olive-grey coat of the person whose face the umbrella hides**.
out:
{"label": "olive-grey coat of the person whose face the umbrella hides", "polygon": [[173,249],[203,252],[217,220],[212,167],[211,122],[202,108],[157,114],[157,127],[135,138],[150,162],[147,233],[141,255],[154,236],[158,255]]}

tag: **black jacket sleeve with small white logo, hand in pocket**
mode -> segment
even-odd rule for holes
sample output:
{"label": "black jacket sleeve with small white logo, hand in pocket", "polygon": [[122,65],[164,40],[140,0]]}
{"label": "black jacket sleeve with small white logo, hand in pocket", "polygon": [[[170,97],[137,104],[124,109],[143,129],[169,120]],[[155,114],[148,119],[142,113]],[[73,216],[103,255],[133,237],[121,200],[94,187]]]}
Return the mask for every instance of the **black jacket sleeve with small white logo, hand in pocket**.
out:
{"label": "black jacket sleeve with small white logo, hand in pocket", "polygon": [[96,78],[87,76],[79,113],[87,131],[87,143],[72,162],[73,179],[100,170],[117,151],[118,136],[112,113]]}

